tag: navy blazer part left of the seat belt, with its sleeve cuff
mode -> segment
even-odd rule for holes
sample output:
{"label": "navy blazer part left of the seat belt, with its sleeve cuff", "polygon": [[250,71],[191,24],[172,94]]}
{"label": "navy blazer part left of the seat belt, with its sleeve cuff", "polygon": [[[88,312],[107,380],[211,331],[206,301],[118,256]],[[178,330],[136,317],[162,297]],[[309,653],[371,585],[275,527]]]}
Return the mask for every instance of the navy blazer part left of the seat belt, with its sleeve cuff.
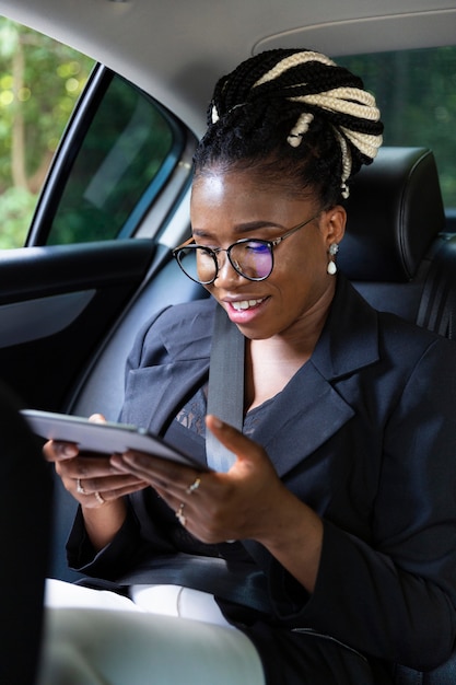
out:
{"label": "navy blazer part left of the seat belt, with its sleeve cuff", "polygon": [[[161,310],[138,332],[126,364],[126,398],[119,420],[160,433],[188,387],[207,371],[213,306],[207,300]],[[167,392],[165,392],[167,390]],[[124,526],[95,554],[78,512],[67,544],[71,568],[113,580],[142,558],[150,546],[160,554],[174,547],[151,519],[151,488],[128,497]],[[145,502],[145,503],[144,503]],[[157,521],[160,514],[157,514]],[[144,541],[144,530],[148,539]]]}

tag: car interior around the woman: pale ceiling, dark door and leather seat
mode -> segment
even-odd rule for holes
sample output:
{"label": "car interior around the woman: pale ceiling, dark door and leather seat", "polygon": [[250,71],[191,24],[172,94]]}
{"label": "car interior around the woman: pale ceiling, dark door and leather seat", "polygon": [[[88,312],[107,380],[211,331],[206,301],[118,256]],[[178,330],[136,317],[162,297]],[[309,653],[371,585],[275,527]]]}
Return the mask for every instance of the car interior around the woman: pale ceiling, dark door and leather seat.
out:
{"label": "car interior around the woman: pale ceiling, dark door and leather seat", "polygon": [[[141,325],[207,297],[172,249],[189,234],[191,155],[219,76],[273,47],[342,59],[456,35],[455,0],[0,0],[0,14],[96,62],[25,245],[0,251],[1,378],[27,407],[108,420]],[[375,307],[455,339],[456,211],[439,171],[426,140],[383,147],[351,186],[338,268]],[[62,580],[79,578],[65,554],[74,511],[56,479],[49,574]],[[432,673],[397,667],[397,685],[455,682],[456,655]]]}

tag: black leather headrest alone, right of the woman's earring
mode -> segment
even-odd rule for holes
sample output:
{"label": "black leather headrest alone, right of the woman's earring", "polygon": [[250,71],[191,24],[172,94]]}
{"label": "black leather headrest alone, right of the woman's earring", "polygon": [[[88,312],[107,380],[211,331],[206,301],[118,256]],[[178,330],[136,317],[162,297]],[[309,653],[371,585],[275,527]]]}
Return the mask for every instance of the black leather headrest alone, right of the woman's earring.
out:
{"label": "black leather headrest alone, right of the woman's earring", "polygon": [[409,281],[445,213],[434,155],[425,148],[381,148],[354,176],[338,266],[355,281]]}

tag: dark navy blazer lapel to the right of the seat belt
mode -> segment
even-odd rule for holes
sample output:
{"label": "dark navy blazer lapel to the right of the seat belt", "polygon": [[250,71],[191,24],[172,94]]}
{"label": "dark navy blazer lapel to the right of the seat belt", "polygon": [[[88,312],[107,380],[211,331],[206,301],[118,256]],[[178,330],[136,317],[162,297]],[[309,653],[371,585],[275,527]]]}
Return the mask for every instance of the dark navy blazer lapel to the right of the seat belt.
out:
{"label": "dark navy blazer lapel to the right of the seat belt", "polygon": [[[266,413],[254,439],[283,477],[354,415],[350,392],[337,381],[378,359],[376,312],[339,277],[337,294],[312,358]],[[299,444],[296,444],[299,440]]]}

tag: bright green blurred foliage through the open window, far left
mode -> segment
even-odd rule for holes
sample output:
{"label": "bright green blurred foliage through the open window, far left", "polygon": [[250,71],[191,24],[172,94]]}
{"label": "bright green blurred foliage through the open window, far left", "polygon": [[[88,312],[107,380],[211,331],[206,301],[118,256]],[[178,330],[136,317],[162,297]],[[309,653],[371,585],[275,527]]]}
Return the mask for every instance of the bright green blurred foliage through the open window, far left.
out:
{"label": "bright green blurred foliage through the open window, far left", "polygon": [[24,244],[37,193],[93,63],[0,16],[0,248]]}

